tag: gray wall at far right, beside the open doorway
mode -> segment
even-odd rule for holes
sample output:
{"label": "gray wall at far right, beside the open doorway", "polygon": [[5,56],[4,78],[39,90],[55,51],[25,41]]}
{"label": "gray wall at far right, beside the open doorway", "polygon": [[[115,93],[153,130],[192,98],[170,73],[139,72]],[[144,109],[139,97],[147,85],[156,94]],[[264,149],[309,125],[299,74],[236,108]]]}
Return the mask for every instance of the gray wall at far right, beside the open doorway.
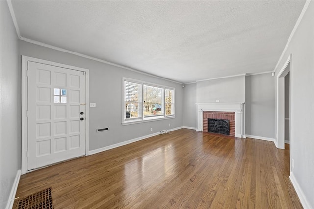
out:
{"label": "gray wall at far right, beside the open doorway", "polygon": [[[290,152],[294,159],[292,176],[299,184],[304,199],[314,208],[314,2],[305,12],[276,75],[291,58],[291,135]],[[303,199],[302,198],[302,199]]]}

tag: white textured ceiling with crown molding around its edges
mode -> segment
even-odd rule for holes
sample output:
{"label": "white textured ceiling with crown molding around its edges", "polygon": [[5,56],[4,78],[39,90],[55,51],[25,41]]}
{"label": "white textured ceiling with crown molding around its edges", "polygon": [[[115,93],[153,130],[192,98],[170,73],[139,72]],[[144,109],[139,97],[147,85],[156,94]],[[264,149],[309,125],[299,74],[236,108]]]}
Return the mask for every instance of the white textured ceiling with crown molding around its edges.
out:
{"label": "white textured ceiling with crown molding around its edges", "polygon": [[305,1],[12,1],[22,37],[182,83],[272,71]]}

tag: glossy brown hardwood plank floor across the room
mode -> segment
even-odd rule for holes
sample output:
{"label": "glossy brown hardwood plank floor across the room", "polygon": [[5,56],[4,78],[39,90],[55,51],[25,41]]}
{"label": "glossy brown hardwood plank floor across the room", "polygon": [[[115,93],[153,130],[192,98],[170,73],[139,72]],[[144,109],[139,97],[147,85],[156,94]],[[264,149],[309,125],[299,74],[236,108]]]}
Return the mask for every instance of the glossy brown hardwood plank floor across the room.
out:
{"label": "glossy brown hardwood plank floor across the room", "polygon": [[302,208],[286,146],[180,129],[25,174],[17,197],[52,187],[55,209]]}

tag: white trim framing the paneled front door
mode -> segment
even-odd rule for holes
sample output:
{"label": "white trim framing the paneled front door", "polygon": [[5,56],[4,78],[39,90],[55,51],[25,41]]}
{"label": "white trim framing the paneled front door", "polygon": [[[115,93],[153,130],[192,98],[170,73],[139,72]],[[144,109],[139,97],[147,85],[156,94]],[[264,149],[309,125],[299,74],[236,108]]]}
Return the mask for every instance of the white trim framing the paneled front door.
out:
{"label": "white trim framing the paneled front door", "polygon": [[28,81],[27,81],[27,69],[28,61],[37,62],[46,65],[52,65],[56,67],[68,68],[71,70],[77,70],[86,72],[86,83],[85,83],[85,101],[86,101],[86,119],[85,119],[85,155],[89,155],[89,70],[85,68],[79,68],[75,66],[60,64],[56,62],[51,62],[43,59],[37,59],[33,57],[23,56],[22,55],[22,68],[21,68],[21,103],[22,103],[22,162],[21,170],[22,174],[27,173],[27,98],[28,98]]}

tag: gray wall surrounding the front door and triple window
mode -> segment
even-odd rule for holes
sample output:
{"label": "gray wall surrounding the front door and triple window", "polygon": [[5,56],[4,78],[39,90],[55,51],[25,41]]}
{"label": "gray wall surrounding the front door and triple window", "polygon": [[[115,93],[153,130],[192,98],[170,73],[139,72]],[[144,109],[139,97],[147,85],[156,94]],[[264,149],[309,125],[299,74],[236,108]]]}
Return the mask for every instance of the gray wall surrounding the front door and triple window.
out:
{"label": "gray wall surrounding the front door and triple window", "polygon": [[[96,103],[96,108],[89,109],[89,150],[103,148],[156,133],[160,130],[183,126],[183,88],[181,84],[125,70],[73,54],[52,50],[25,41],[19,41],[19,57],[21,55],[89,69],[89,101]],[[20,66],[21,63],[19,63],[19,68],[21,68]],[[174,87],[176,89],[176,117],[122,126],[122,77]],[[168,126],[169,123],[170,127]],[[106,127],[109,127],[109,131],[96,132],[96,129]],[[150,131],[151,127],[153,131]]]}

